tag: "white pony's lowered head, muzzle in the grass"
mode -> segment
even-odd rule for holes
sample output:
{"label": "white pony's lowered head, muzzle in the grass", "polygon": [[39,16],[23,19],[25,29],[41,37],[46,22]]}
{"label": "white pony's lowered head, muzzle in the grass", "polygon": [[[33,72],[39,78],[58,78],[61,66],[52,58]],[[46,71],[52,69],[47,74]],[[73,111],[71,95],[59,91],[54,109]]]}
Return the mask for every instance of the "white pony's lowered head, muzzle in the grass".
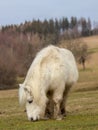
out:
{"label": "white pony's lowered head, muzzle in the grass", "polygon": [[42,119],[44,116],[45,108],[40,104],[40,99],[37,100],[33,96],[33,92],[30,86],[19,85],[19,101],[20,104],[26,105],[26,112],[30,121],[36,121]]}

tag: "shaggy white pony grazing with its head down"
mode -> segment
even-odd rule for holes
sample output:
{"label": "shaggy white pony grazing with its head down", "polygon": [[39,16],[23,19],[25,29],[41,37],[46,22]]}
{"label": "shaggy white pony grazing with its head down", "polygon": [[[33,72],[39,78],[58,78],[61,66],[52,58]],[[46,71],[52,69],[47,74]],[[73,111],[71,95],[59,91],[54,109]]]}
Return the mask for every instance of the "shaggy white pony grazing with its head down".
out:
{"label": "shaggy white pony grazing with its head down", "polygon": [[78,80],[78,70],[73,54],[50,45],[35,57],[25,81],[20,84],[19,102],[26,105],[28,119],[36,121],[45,117],[51,93],[54,118],[66,114],[66,98],[71,86]]}

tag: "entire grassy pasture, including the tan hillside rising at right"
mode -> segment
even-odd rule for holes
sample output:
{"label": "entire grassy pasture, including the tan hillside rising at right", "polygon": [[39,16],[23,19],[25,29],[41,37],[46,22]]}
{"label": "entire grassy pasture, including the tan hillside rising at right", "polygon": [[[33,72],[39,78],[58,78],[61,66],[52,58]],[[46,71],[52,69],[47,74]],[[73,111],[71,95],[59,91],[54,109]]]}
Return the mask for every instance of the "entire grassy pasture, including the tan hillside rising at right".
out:
{"label": "entire grassy pasture, including the tan hillside rising at right", "polygon": [[97,36],[83,39],[89,46],[86,70],[79,68],[79,81],[67,101],[67,117],[61,121],[30,122],[18,103],[18,90],[0,91],[0,130],[98,130],[98,43]]}

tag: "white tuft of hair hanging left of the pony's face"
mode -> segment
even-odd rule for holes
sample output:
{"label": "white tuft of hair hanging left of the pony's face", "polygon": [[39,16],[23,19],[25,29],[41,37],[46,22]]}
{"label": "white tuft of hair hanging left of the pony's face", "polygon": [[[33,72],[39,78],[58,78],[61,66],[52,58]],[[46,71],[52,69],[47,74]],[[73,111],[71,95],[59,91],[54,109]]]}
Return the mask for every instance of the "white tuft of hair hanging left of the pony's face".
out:
{"label": "white tuft of hair hanging left of the pony's face", "polygon": [[26,102],[26,93],[23,84],[19,84],[19,103],[24,105]]}

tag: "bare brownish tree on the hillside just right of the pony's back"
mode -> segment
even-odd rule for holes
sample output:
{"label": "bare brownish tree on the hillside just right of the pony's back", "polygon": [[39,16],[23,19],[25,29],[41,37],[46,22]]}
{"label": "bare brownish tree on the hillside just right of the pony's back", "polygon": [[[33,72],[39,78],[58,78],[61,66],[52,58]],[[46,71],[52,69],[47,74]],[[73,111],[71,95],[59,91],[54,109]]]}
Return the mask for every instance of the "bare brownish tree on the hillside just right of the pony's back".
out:
{"label": "bare brownish tree on the hillside just right of the pony's back", "polygon": [[[62,46],[62,44],[61,44]],[[63,41],[63,47],[71,50],[78,63],[85,69],[85,62],[88,59],[88,46],[80,38]]]}

